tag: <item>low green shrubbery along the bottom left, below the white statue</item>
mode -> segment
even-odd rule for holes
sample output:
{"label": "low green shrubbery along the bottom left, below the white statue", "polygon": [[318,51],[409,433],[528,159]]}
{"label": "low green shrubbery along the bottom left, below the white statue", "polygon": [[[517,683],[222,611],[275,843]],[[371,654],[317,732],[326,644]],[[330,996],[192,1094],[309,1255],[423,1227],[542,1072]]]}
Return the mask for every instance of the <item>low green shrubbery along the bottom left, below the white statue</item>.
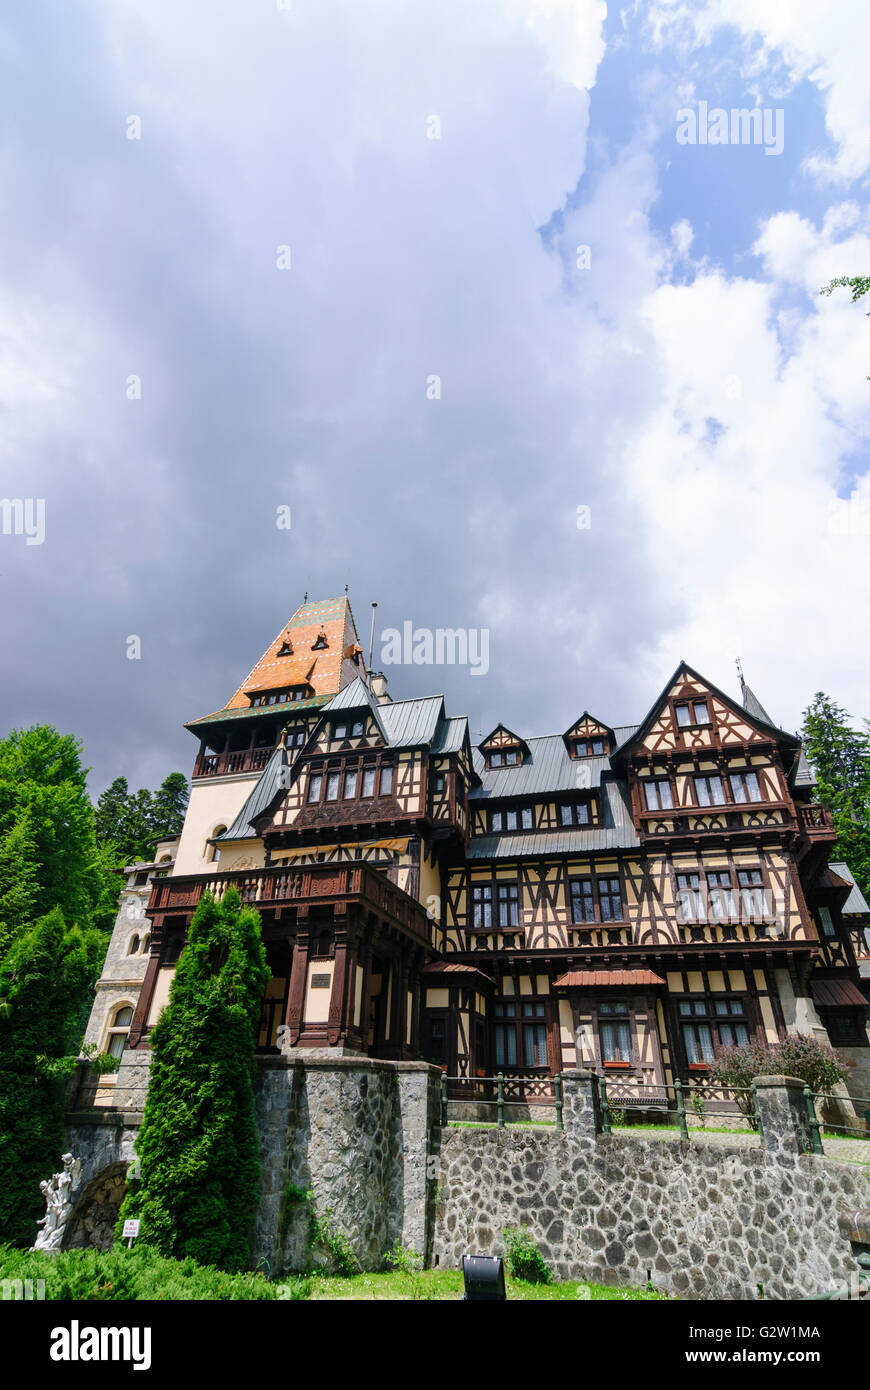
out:
{"label": "low green shrubbery along the bottom left, below the white statue", "polygon": [[[260,1273],[227,1275],[195,1259],[167,1259],[147,1245],[29,1254],[0,1245],[0,1282],[44,1282],[46,1300],[252,1300],[288,1297]],[[290,1295],[292,1297],[292,1295]]]}

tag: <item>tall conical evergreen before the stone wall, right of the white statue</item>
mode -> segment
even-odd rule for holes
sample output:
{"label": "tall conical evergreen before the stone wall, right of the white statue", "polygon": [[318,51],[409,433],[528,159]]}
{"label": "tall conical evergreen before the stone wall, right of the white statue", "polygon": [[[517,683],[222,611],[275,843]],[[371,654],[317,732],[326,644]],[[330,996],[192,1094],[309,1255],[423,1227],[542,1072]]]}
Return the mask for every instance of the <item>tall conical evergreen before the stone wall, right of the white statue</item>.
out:
{"label": "tall conical evergreen before the stone wall, right of the white statue", "polygon": [[140,1180],[120,1215],[138,1216],[139,1240],[161,1254],[231,1272],[249,1261],[258,1200],[253,1074],[267,979],[258,913],[235,890],[220,902],[204,894],[151,1031]]}

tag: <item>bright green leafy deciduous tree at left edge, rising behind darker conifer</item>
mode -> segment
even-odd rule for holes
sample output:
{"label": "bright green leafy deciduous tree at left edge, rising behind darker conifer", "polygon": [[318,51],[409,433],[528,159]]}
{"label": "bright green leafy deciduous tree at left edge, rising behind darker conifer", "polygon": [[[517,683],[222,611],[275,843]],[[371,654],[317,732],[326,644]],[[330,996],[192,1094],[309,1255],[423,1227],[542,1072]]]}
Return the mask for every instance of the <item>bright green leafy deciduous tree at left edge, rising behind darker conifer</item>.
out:
{"label": "bright green leafy deciduous tree at left edge, rising behind darker conifer", "polygon": [[81,746],[50,724],[0,739],[0,951],[53,908],[89,927],[108,891]]}

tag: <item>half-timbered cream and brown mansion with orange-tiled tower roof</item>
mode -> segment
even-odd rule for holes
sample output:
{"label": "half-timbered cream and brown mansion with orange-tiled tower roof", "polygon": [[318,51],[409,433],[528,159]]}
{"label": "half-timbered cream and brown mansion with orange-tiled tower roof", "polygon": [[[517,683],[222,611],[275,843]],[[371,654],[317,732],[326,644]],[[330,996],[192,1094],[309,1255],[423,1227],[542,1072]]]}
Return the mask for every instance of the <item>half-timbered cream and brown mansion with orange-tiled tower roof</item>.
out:
{"label": "half-timbered cream and brown mansion with orange-tiled tower roof", "polygon": [[748,687],[681,663],[638,724],[584,710],[473,746],[441,695],[393,699],[367,671],[343,598],[306,602],[186,727],[190,803],[128,1049],[147,1049],[202,892],[235,884],[271,969],[263,1051],[655,1087],[796,1031],[866,1076],[867,903],[830,862],[799,739]]}

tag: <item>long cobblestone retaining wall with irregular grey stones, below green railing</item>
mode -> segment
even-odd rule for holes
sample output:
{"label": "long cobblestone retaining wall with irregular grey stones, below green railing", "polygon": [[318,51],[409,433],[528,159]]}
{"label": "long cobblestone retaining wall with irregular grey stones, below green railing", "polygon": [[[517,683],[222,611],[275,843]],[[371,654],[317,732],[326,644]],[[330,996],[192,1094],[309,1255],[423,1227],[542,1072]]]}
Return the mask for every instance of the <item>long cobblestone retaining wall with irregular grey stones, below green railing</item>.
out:
{"label": "long cobblestone retaining wall with irregular grey stones, below green railing", "polygon": [[813,1155],[623,1134],[445,1130],[432,1262],[502,1254],[525,1225],[563,1279],[687,1298],[798,1298],[855,1273],[838,1216],[870,1170]]}

